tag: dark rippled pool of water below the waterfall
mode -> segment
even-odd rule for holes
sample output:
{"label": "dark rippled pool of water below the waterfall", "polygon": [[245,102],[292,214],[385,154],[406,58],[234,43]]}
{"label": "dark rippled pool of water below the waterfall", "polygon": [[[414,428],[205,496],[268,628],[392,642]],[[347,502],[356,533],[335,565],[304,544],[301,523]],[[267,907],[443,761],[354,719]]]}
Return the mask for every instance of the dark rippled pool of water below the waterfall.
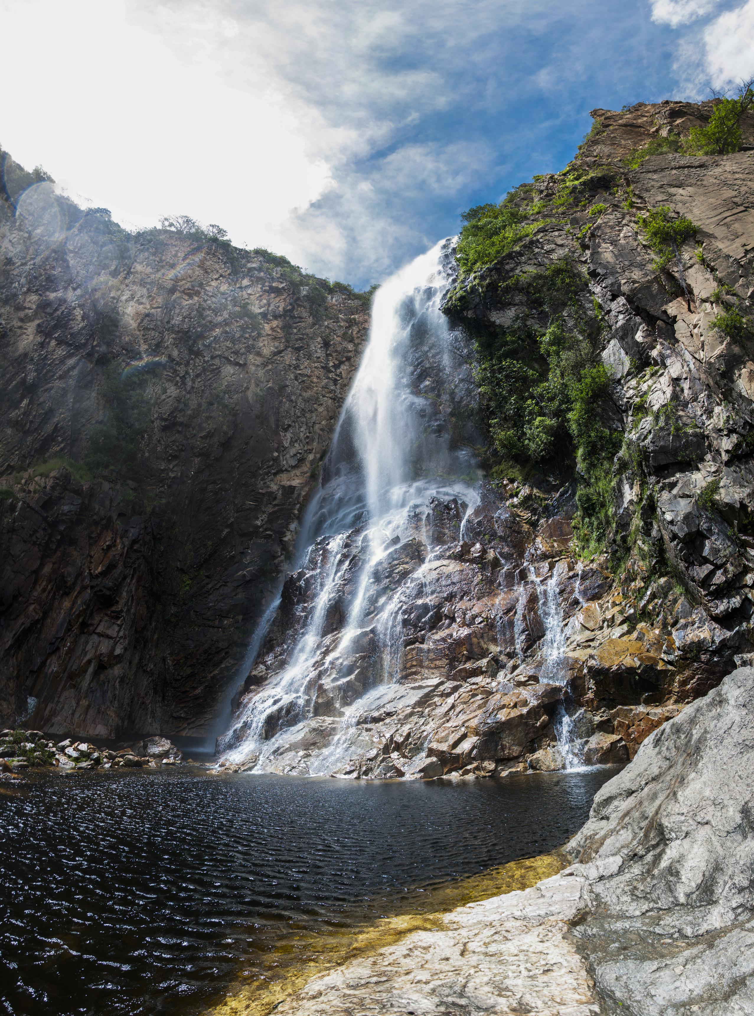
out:
{"label": "dark rippled pool of water below the waterfall", "polygon": [[45,775],[0,793],[0,1013],[201,1011],[297,931],[562,844],[614,772],[352,782]]}

